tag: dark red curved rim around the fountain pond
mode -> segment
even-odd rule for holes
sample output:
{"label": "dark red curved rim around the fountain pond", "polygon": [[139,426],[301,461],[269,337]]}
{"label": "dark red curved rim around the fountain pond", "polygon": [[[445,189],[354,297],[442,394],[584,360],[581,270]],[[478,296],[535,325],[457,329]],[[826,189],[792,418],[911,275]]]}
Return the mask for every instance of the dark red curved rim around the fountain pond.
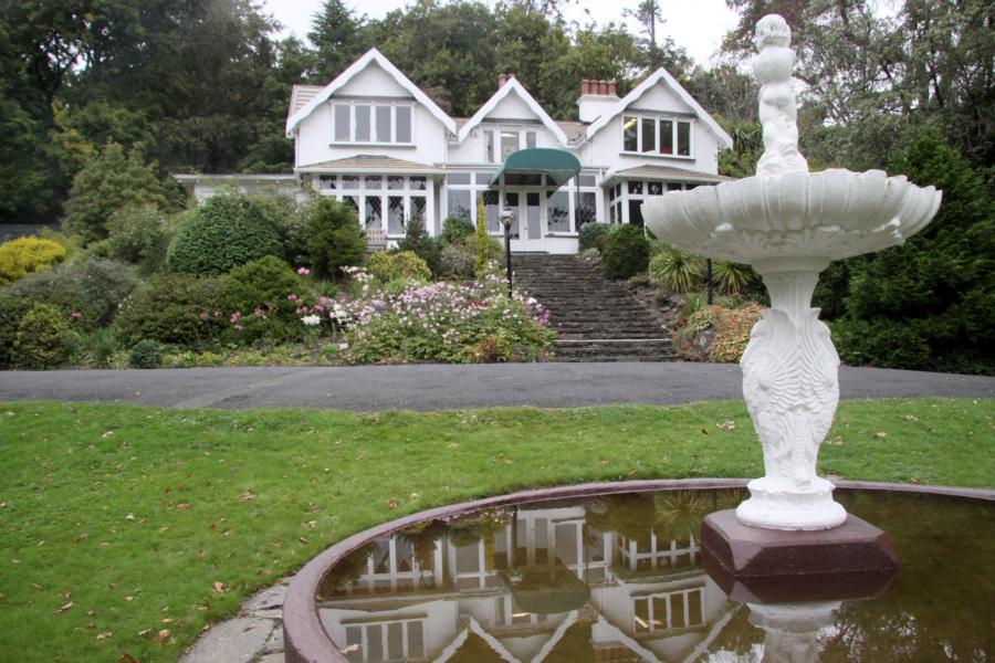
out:
{"label": "dark red curved rim around the fountain pond", "polygon": [[[377,525],[365,532],[335,544],[307,562],[291,579],[283,606],[283,628],[286,663],[348,663],[335,644],[325,634],[315,608],[315,593],[322,578],[348,554],[373,539],[436,518],[451,518],[483,508],[494,508],[509,504],[524,504],[570,497],[595,497],[619,493],[639,493],[666,490],[742,488],[746,478],[674,478],[643,480],[629,482],[589,483],[535,491],[523,491],[473,502],[452,504]],[[922,493],[938,496],[964,497],[995,502],[995,490],[961,488],[955,486],[922,486],[861,481],[837,481],[837,488],[856,491],[890,491]]]}

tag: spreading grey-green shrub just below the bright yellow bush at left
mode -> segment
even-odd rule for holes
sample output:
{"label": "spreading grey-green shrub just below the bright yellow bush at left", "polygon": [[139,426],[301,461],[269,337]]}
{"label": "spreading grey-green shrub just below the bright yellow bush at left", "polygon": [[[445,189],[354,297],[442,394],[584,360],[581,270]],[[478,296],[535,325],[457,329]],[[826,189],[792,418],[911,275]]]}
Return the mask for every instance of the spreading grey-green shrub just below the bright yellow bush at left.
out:
{"label": "spreading grey-green shrub just below the bright yellow bush at left", "polygon": [[91,257],[32,274],[12,290],[25,299],[57,306],[78,328],[96,329],[114,319],[118,304],[138,283],[132,265]]}

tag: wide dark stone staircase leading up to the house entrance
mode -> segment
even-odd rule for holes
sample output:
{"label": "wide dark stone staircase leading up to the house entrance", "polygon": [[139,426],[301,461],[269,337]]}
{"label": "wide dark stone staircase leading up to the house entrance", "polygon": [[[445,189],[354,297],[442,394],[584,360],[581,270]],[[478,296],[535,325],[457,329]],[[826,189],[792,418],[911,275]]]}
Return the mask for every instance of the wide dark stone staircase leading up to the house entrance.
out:
{"label": "wide dark stone staircase leading up to the house entrance", "polygon": [[624,285],[573,255],[516,253],[515,287],[549,309],[557,361],[670,361],[670,333]]}

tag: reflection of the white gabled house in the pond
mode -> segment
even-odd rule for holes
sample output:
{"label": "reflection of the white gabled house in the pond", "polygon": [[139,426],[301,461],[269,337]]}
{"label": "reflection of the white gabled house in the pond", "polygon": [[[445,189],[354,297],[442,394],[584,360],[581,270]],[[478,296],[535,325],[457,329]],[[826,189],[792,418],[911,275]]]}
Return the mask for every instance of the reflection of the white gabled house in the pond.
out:
{"label": "reflection of the white gabled house in the pond", "polygon": [[470,660],[468,639],[492,660],[564,661],[555,650],[575,628],[595,661],[683,661],[729,619],[693,538],[601,533],[583,506],[397,534],[367,551],[354,579],[321,591],[322,622],[350,661]]}

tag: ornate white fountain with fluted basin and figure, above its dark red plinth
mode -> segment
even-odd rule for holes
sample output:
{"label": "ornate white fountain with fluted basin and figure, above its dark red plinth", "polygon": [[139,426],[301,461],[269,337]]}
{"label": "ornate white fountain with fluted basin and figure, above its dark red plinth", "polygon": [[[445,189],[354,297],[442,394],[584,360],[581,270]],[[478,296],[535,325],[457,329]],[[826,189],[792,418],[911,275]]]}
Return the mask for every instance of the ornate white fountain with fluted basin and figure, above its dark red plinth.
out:
{"label": "ornate white fountain with fluted basin and figure, above its dark red plinth", "polygon": [[839,401],[839,357],[810,306],[816,282],[830,261],[901,244],[922,230],[941,192],[880,170],[809,172],[798,152],[790,29],[766,15],[755,44],[765,148],[756,176],[650,199],[643,217],[657,238],[682,251],[753,265],[771,294],[740,362],[765,474],[750,482],[736,517],[771,529],[828,529],[847,513],[832,499],[832,484],[816,475]]}

